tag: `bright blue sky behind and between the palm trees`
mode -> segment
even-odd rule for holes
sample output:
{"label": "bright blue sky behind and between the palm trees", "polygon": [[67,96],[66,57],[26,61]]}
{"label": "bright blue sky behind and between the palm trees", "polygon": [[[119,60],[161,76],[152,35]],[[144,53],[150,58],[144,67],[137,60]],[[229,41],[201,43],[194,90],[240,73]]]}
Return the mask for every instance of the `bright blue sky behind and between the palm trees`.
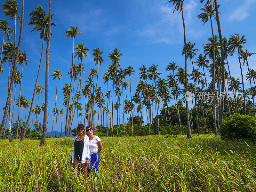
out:
{"label": "bright blue sky behind and between the palm trees", "polygon": [[[172,4],[166,4],[167,1],[159,0],[131,0],[127,1],[52,1],[52,22],[57,26],[52,27],[52,39],[50,44],[50,66],[49,66],[49,107],[50,111],[54,108],[55,94],[56,94],[56,80],[53,81],[51,75],[57,68],[62,71],[63,78],[58,82],[58,96],[57,108],[65,111],[63,106],[63,93],[62,87],[65,83],[70,83],[68,67],[72,64],[72,39],[64,38],[65,31],[70,25],[78,26],[79,34],[75,38],[75,45],[84,43],[90,49],[87,57],[84,58],[83,64],[86,66],[86,75],[82,76],[82,84],[87,79],[88,71],[93,67],[96,68],[92,57],[92,49],[97,46],[103,51],[104,62],[100,66],[99,83],[102,92],[106,93],[107,86],[102,80],[106,68],[110,64],[107,55],[110,50],[115,47],[120,49],[124,55],[120,58],[121,68],[127,68],[132,65],[135,70],[135,75],[132,76],[132,95],[135,92],[136,85],[139,79],[139,67],[145,65],[147,68],[152,64],[158,64],[158,71],[162,72],[161,78],[165,78],[168,72],[165,71],[169,62],[175,61],[181,67],[184,67],[184,57],[181,56],[181,50],[184,45],[183,40],[183,26],[181,14],[173,12]],[[218,1],[220,3],[220,1]],[[18,1],[21,11],[21,1]],[[44,8],[48,13],[48,1],[25,1],[24,10],[24,28],[21,42],[21,51],[27,52],[27,57],[30,60],[28,66],[24,66],[22,91],[21,94],[26,97],[30,102],[35,86],[35,80],[41,55],[42,41],[39,39],[39,32],[30,32],[32,26],[27,25],[29,21],[29,13],[37,5]],[[187,0],[184,2],[184,17],[186,25],[186,38],[187,42],[196,42],[196,48],[199,50],[197,55],[203,53],[202,44],[207,43],[207,38],[211,36],[210,22],[203,26],[201,20],[197,19],[197,15],[201,13],[199,0]],[[254,0],[239,1],[234,0],[230,3],[229,0],[221,1],[219,8],[220,24],[222,36],[229,38],[234,33],[244,34],[248,41],[244,48],[249,49],[251,52],[256,52],[255,42],[256,37],[254,33],[256,12]],[[14,27],[14,20],[9,20],[3,13],[0,13],[1,19],[8,19],[10,27]],[[214,33],[218,34],[217,24],[214,22]],[[17,25],[16,39],[19,38],[19,28]],[[3,33],[0,33],[2,37]],[[6,39],[5,39],[6,40]],[[13,41],[13,36],[11,36]],[[42,60],[42,67],[40,71],[39,84],[45,87],[45,51],[46,43],[44,46],[44,55]],[[235,78],[240,78],[241,73],[239,62],[236,61],[237,53],[229,57],[229,65],[231,75]],[[75,58],[74,63],[78,64]],[[256,56],[253,55],[249,60],[250,68],[256,67]],[[17,65],[18,66],[18,65]],[[4,63],[4,73],[0,74],[0,106],[4,107],[6,97],[8,94],[8,64]],[[188,60],[188,69],[192,71],[192,64]],[[18,67],[21,71],[21,68]],[[201,70],[201,69],[200,69]],[[243,74],[247,72],[246,66],[243,67]],[[129,79],[127,78],[127,81]],[[249,88],[250,83],[245,80],[245,87]],[[16,98],[19,94],[19,85],[16,88]],[[14,95],[14,94],[13,94]],[[37,103],[37,98],[34,101],[34,107]],[[13,96],[14,99],[14,96]],[[12,105],[13,105],[12,99]],[[85,106],[85,99],[80,101]],[[115,102],[115,99],[114,99]],[[44,103],[44,93],[40,95],[39,105]],[[171,101],[171,103],[174,103]],[[2,109],[1,107],[1,109]],[[29,108],[28,108],[29,110]],[[27,110],[27,112],[28,112]],[[97,108],[96,108],[97,110]],[[25,113],[23,113],[23,118]],[[0,117],[3,117],[3,111],[0,111]],[[115,115],[114,115],[115,117]],[[18,107],[14,109],[14,121],[18,118]],[[31,118],[30,118],[31,119]],[[43,113],[40,115],[42,122]],[[35,120],[35,117],[34,117]],[[65,121],[65,117],[63,118]],[[48,130],[52,127],[53,115],[50,112]],[[61,116],[58,116],[57,131],[60,130]],[[76,118],[74,122],[76,122]],[[121,121],[122,122],[122,121]],[[106,121],[105,121],[106,124]],[[64,125],[65,126],[65,125]]]}

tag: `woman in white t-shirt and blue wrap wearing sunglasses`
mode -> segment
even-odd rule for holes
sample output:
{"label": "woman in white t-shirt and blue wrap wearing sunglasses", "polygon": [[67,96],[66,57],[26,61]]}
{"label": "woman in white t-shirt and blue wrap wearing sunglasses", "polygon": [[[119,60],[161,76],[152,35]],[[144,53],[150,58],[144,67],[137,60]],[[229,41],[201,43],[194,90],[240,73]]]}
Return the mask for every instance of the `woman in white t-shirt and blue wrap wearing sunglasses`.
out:
{"label": "woman in white t-shirt and blue wrap wearing sunglasses", "polygon": [[89,135],[90,148],[90,165],[88,166],[88,175],[90,172],[92,172],[92,174],[96,176],[98,173],[98,166],[100,163],[99,152],[103,149],[103,147],[100,138],[96,135],[93,135],[93,129],[91,126],[86,127],[86,132]]}

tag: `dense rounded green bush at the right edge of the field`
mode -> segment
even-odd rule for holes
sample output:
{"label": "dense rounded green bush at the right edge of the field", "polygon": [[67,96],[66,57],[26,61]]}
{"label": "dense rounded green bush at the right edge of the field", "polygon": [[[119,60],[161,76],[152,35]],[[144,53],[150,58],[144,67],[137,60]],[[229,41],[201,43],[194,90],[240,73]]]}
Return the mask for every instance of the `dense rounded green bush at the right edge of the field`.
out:
{"label": "dense rounded green bush at the right edge of the field", "polygon": [[221,139],[255,139],[256,121],[249,115],[233,114],[220,125]]}

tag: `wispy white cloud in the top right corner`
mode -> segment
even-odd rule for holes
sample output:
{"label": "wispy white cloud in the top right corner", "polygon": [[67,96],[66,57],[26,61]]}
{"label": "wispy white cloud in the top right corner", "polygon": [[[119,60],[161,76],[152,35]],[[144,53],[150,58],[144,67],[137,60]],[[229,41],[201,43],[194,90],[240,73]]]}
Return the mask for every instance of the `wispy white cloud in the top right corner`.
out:
{"label": "wispy white cloud in the top right corner", "polygon": [[255,0],[246,0],[242,6],[234,9],[230,16],[228,17],[228,21],[241,21],[246,19],[249,16],[249,8]]}

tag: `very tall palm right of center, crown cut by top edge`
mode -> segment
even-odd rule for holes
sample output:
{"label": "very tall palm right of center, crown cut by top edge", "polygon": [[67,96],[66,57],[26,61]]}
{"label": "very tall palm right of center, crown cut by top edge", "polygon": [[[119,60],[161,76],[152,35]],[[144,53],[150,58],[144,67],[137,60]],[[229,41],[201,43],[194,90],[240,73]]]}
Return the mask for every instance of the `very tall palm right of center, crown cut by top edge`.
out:
{"label": "very tall palm right of center, crown cut by top edge", "polygon": [[[168,3],[172,3],[175,5],[174,11],[181,12],[182,14],[182,22],[183,22],[183,33],[184,33],[184,54],[185,54],[185,89],[184,91],[187,92],[188,90],[188,74],[187,74],[187,47],[186,47],[186,30],[185,30],[185,21],[183,15],[183,0],[170,0]],[[174,12],[173,11],[173,12]],[[191,130],[190,130],[190,123],[189,123],[189,111],[188,111],[188,101],[186,100],[186,118],[187,118],[187,138],[191,138]]]}

